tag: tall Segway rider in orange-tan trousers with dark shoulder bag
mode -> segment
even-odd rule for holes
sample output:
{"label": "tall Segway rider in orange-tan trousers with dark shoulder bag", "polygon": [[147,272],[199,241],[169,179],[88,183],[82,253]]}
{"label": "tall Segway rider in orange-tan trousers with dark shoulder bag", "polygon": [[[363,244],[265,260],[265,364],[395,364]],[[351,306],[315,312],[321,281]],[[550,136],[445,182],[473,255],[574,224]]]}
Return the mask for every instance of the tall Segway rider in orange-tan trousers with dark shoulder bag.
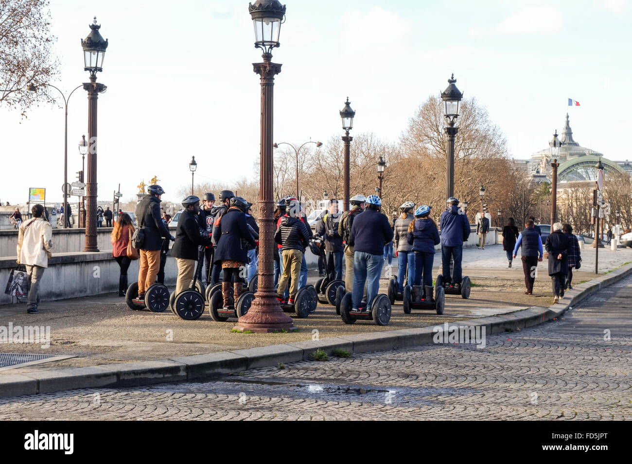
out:
{"label": "tall Segway rider in orange-tan trousers with dark shoulder bag", "polygon": [[156,281],[156,275],[160,270],[162,240],[173,238],[160,215],[161,196],[164,190],[159,185],[150,185],[147,191],[149,194],[143,197],[136,207],[138,227],[145,234],[138,259],[138,299],[142,299],[145,290]]}

